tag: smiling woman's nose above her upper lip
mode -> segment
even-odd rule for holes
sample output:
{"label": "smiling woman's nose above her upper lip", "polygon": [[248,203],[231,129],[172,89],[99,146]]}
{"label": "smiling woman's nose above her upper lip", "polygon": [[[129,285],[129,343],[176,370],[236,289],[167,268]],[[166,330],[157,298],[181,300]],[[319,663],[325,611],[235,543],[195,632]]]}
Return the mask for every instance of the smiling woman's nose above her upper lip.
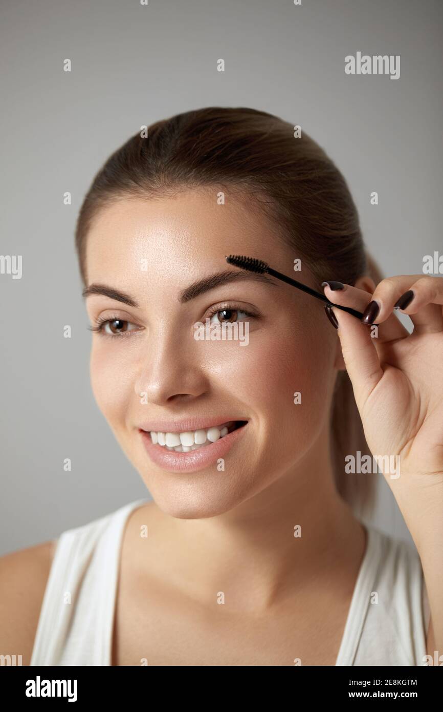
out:
{"label": "smiling woman's nose above her upper lip", "polygon": [[156,333],[144,353],[134,391],[142,404],[189,402],[208,390],[201,349],[189,335]]}

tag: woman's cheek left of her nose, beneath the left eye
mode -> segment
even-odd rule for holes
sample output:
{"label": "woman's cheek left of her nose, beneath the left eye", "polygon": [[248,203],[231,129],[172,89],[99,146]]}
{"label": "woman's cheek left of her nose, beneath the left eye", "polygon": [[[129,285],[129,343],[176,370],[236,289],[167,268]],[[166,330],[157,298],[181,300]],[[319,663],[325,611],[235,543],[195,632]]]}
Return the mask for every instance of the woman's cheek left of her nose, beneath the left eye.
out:
{"label": "woman's cheek left of her nose, beneath the left eye", "polygon": [[134,380],[122,351],[101,345],[96,340],[90,357],[92,392],[113,429],[124,425],[127,407],[134,398]]}

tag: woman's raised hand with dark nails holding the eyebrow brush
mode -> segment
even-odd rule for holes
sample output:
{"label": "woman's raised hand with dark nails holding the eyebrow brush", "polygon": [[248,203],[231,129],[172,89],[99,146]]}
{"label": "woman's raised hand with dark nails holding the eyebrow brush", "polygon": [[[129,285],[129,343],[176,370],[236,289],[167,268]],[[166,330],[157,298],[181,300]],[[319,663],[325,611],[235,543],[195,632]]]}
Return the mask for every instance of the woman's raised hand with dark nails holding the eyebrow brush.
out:
{"label": "woman's raised hand with dark nails holding the eyebrow brush", "polygon": [[[402,312],[412,319],[412,334],[393,310],[397,300],[409,290],[413,298]],[[378,327],[362,323],[341,309],[332,309],[371,453],[400,456],[396,490],[406,485],[427,488],[439,483],[441,491],[443,278],[423,275],[386,278],[372,296],[349,285],[343,290],[325,286],[324,293],[331,303],[360,311],[368,303],[377,303],[372,305],[376,313],[370,322]],[[383,473],[394,488],[395,480],[389,473]]]}

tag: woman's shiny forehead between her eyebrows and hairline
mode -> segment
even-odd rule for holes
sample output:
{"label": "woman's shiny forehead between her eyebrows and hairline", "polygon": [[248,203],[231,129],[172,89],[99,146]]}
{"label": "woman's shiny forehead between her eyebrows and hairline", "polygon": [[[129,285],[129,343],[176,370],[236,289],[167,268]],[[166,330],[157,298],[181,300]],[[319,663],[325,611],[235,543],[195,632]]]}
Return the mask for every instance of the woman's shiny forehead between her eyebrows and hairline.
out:
{"label": "woman's shiny forehead between her eyebrows and hairline", "polygon": [[225,267],[229,253],[271,263],[276,251],[285,253],[275,227],[252,198],[229,194],[219,204],[218,197],[214,188],[113,201],[100,210],[87,235],[88,282],[104,275],[126,281],[142,266],[169,279],[183,270],[201,276],[203,266]]}

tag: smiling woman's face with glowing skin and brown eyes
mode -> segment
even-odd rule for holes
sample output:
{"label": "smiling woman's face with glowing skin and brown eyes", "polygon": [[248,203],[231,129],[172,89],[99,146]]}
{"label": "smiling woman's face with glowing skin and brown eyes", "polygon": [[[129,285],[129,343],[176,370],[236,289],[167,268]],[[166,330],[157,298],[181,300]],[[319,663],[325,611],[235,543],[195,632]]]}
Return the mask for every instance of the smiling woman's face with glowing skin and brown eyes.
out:
{"label": "smiling woman's face with glowing skin and brown eyes", "polygon": [[[294,272],[299,255],[252,199],[220,205],[209,189],[117,201],[87,236],[87,311],[92,325],[108,320],[92,335],[95,399],[157,505],[178,518],[224,513],[295,476],[328,417],[337,335],[322,303],[252,278],[228,254],[314,286],[303,261]],[[237,277],[208,281],[226,272]],[[196,339],[206,318],[213,338]],[[237,338],[221,340],[227,321],[238,324]],[[174,445],[180,433],[195,431],[206,444],[181,452],[148,434],[170,433],[166,445],[183,450]]]}

